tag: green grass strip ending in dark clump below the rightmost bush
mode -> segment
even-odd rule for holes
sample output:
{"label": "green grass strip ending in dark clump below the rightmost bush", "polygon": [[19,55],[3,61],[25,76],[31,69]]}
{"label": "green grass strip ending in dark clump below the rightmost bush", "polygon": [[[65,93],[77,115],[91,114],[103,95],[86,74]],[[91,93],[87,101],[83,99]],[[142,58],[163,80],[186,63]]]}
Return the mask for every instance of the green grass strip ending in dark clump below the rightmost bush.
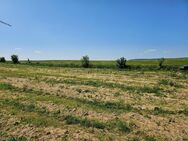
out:
{"label": "green grass strip ending in dark clump below the rightmost bush", "polygon": [[[40,75],[42,75],[42,73],[39,73]],[[28,77],[28,76],[32,76],[32,74],[20,74],[21,77]],[[43,74],[44,75],[44,74]],[[45,74],[46,75],[46,74]],[[50,74],[49,74],[50,75]],[[18,76],[18,74],[12,74],[13,76]],[[36,74],[35,74],[36,76]],[[72,76],[70,76],[72,77]],[[96,79],[85,79],[85,78],[77,78],[77,77],[72,77],[72,78],[66,78],[66,79],[61,79],[61,80],[56,80],[53,78],[39,78],[39,77],[35,77],[37,79],[37,81],[44,81],[46,83],[49,84],[70,84],[70,85],[85,85],[85,86],[93,86],[93,87],[103,87],[103,88],[109,88],[109,89],[114,89],[114,88],[118,88],[121,89],[122,91],[127,91],[130,93],[137,93],[137,94],[144,94],[144,93],[153,93],[156,96],[163,96],[162,92],[163,89],[159,87],[159,85],[155,85],[155,86],[128,86],[128,85],[124,85],[124,84],[118,84],[118,83],[112,83],[112,82],[104,82],[104,81],[99,81]]]}

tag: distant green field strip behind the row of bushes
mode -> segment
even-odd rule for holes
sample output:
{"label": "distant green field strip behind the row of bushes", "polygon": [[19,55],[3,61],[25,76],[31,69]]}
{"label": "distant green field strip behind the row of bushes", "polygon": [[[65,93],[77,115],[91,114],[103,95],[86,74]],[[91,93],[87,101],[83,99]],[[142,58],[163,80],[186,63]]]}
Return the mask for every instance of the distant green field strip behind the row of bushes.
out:
{"label": "distant green field strip behind the row of bushes", "polygon": [[[23,65],[27,65],[27,61],[21,61]],[[148,60],[128,60],[127,65],[137,69],[156,69],[159,61],[157,59]],[[187,65],[188,58],[165,59],[164,66],[169,69],[178,69],[179,66]],[[81,67],[80,60],[48,60],[48,61],[32,61],[33,66],[48,67]],[[92,68],[116,68],[116,61],[91,61]]]}

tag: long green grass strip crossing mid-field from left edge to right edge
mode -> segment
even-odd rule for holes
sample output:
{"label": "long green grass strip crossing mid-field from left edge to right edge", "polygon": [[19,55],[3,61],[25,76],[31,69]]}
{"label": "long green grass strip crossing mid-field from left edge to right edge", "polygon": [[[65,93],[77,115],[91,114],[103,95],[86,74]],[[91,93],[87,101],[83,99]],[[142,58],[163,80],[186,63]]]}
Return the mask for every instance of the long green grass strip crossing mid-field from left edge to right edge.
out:
{"label": "long green grass strip crossing mid-field from left edge to right edge", "polygon": [[[3,87],[1,87],[1,84],[3,85]],[[8,85],[8,86],[6,86]],[[97,109],[101,109],[101,110],[105,110],[105,111],[109,111],[109,112],[138,112],[140,113],[139,109],[132,107],[130,104],[126,104],[122,101],[118,101],[118,102],[102,102],[102,101],[97,101],[97,100],[86,100],[86,99],[81,99],[81,98],[72,98],[72,97],[67,97],[67,96],[61,96],[61,99],[58,96],[53,96],[50,93],[45,93],[43,91],[37,91],[37,90],[33,90],[33,89],[23,89],[23,88],[18,88],[18,87],[14,87],[10,84],[6,84],[6,83],[0,83],[0,89],[5,89],[5,90],[10,90],[12,92],[23,92],[28,93],[30,95],[28,95],[28,98],[32,98],[31,94],[34,95],[35,100],[41,100],[41,101],[52,101],[55,104],[68,104],[69,106],[73,106],[73,107],[77,107],[77,106],[83,106],[84,108],[92,108],[93,110],[97,110]],[[26,95],[27,96],[27,95]],[[29,100],[29,99],[27,99]],[[72,104],[71,104],[72,103]],[[12,103],[12,104],[16,104]],[[19,104],[18,104],[19,106]],[[20,107],[24,107],[22,105],[20,105]],[[30,105],[29,107],[25,107],[26,110],[32,110],[32,105]],[[23,108],[24,110],[24,108]],[[42,111],[39,111],[41,113],[45,112],[45,109],[42,109]],[[146,112],[146,113],[151,113],[154,115],[170,115],[170,114],[185,114],[186,115],[186,110],[184,110],[184,112],[180,111],[169,111],[169,110],[164,110],[161,107],[155,107],[154,110],[142,110],[141,113]]]}

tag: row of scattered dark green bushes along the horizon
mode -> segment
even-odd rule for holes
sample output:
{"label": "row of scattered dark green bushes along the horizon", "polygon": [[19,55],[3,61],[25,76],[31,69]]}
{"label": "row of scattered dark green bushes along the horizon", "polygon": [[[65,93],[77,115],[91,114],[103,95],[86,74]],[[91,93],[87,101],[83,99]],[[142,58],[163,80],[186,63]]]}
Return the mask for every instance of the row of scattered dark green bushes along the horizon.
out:
{"label": "row of scattered dark green bushes along the horizon", "polygon": [[[12,61],[13,64],[19,64],[20,63],[18,55],[12,55],[11,61]],[[28,63],[31,63],[31,61],[29,59],[27,61],[28,61]],[[6,62],[5,57],[0,57],[0,63],[5,63],[5,62]],[[159,63],[158,63],[159,68],[163,67],[164,62],[165,62],[164,58],[159,59]],[[84,68],[91,67],[92,64],[91,64],[91,61],[89,59],[89,56],[87,56],[87,55],[83,56],[81,58],[81,64],[82,64],[82,67],[84,67]],[[121,57],[121,58],[117,59],[116,60],[116,66],[119,69],[126,69],[128,67],[127,59],[125,57]]]}

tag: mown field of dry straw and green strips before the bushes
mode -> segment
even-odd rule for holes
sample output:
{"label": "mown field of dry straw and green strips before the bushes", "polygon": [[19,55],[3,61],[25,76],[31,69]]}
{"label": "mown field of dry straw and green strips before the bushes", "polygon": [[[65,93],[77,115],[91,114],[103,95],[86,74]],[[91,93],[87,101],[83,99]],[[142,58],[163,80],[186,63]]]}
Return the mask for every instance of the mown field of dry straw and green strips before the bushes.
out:
{"label": "mown field of dry straw and green strips before the bushes", "polygon": [[186,141],[188,73],[0,64],[3,140]]}

